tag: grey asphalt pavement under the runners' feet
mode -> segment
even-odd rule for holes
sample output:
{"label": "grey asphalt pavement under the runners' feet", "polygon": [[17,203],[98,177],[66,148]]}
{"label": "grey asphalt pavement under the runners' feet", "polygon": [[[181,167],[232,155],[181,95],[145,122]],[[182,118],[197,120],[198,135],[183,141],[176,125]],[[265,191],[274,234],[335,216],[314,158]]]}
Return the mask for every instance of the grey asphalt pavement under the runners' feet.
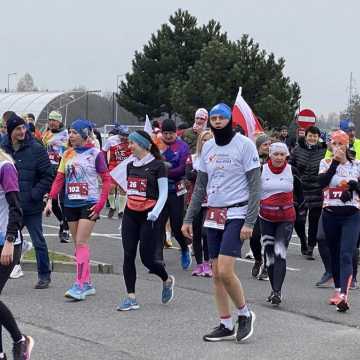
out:
{"label": "grey asphalt pavement under the runners' feet", "polygon": [[[121,273],[123,251],[119,221],[99,221],[91,240],[92,258],[111,263],[114,274],[93,276],[97,295],[84,302],[64,298],[74,275],[54,273],[51,287],[34,290],[36,274],[8,282],[1,295],[21,329],[35,339],[32,359],[150,360],[150,359],[292,359],[360,358],[360,290],[351,292],[351,309],[338,313],[327,305],[332,289],[317,289],[322,274],[316,261],[301,257],[296,237],[288,251],[288,271],[279,308],[266,303],[269,282],[251,277],[252,262],[239,259],[237,271],[251,309],[255,332],[248,341],[206,343],[202,336],[218,325],[210,279],[191,277],[179,264],[177,249],[165,250],[167,270],[176,278],[175,298],[161,305],[161,282],[137,262],[137,300],[140,310],[117,312],[125,295]],[[53,218],[44,222],[49,249],[73,253],[60,244]],[[248,243],[244,245],[244,254]],[[9,353],[10,339],[5,333]]]}

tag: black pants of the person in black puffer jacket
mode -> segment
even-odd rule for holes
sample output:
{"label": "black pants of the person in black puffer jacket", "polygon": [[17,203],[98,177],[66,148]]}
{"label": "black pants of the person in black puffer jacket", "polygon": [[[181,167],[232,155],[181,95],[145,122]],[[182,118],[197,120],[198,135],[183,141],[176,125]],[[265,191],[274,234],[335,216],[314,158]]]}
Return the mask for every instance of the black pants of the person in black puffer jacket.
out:
{"label": "black pants of the person in black puffer jacket", "polygon": [[[307,246],[314,248],[317,244],[316,234],[317,227],[319,224],[319,219],[321,215],[322,208],[310,208],[306,210],[304,216],[297,217],[295,222],[295,231],[298,234],[301,241],[301,248],[306,249]],[[309,215],[309,228],[308,228],[308,236],[306,241],[306,217]]]}

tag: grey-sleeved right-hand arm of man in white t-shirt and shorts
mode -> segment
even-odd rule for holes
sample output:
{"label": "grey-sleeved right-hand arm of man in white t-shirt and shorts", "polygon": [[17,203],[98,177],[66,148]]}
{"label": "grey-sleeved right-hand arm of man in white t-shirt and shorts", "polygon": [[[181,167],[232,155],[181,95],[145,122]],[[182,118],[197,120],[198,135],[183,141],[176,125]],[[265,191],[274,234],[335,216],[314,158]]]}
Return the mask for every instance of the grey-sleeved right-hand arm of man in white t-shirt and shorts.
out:
{"label": "grey-sleeved right-hand arm of man in white t-shirt and shorts", "polygon": [[255,168],[246,172],[246,178],[249,184],[249,200],[248,209],[245,217],[245,224],[249,228],[253,228],[259,215],[259,203],[261,194],[261,171]]}

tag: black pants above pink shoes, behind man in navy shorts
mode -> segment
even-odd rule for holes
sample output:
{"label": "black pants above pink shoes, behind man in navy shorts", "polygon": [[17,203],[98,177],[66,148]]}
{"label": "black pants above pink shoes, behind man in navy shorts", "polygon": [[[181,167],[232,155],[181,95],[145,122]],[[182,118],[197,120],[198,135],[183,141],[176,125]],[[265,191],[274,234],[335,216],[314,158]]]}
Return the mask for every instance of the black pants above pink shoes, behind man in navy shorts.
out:
{"label": "black pants above pink shoes, behind man in navy shorts", "polygon": [[198,265],[202,264],[203,260],[209,261],[206,230],[203,227],[206,211],[206,208],[202,208],[193,220],[193,250]]}

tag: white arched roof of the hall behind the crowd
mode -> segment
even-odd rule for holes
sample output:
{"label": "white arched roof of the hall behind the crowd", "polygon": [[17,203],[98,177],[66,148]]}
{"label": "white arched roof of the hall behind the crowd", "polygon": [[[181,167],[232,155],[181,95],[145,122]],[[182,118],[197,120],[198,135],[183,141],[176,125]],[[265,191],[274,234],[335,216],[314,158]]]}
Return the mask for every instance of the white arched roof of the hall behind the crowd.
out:
{"label": "white arched roof of the hall behind the crowd", "polygon": [[0,116],[5,111],[14,111],[19,115],[32,113],[37,119],[51,101],[64,94],[64,92],[40,91],[0,93]]}

